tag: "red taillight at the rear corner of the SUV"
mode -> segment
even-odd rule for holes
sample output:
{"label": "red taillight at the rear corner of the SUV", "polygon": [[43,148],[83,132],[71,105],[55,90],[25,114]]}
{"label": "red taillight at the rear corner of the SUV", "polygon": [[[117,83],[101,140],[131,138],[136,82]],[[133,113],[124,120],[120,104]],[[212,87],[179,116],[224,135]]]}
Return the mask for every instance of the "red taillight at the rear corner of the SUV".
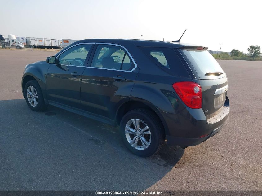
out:
{"label": "red taillight at the rear corner of the SUV", "polygon": [[202,107],[202,89],[198,83],[176,82],[173,84],[173,88],[188,107],[193,109]]}

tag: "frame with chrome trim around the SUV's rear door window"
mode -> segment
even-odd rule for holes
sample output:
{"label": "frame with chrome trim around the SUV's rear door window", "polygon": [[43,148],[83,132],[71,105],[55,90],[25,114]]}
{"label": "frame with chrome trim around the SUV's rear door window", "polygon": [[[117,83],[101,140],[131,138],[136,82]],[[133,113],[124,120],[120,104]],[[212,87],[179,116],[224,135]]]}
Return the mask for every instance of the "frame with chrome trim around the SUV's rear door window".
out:
{"label": "frame with chrome trim around the SUV's rear door window", "polygon": [[[125,50],[125,53],[128,54],[130,60],[134,63],[135,67],[134,67],[133,69],[131,69],[130,71],[128,71],[128,70],[119,70],[119,69],[107,69],[107,68],[96,68],[96,67],[91,67],[91,62],[92,62],[92,60],[93,60],[93,58],[94,58],[95,51],[96,51],[96,49],[97,49],[97,46],[100,45],[100,44],[102,44],[102,45],[113,45],[113,46],[119,46],[119,47],[123,48],[123,49]],[[91,56],[90,56],[90,58],[89,58],[89,61],[88,61],[88,64],[87,64],[87,68],[94,68],[94,69],[107,69],[107,70],[114,70],[114,71],[120,71],[120,72],[133,72],[133,71],[137,68],[137,64],[135,63],[135,60],[133,59],[133,57],[131,56],[131,54],[128,52],[128,50],[127,50],[124,46],[122,46],[122,45],[118,45],[118,44],[96,42],[96,43],[95,43],[95,47],[94,47],[94,49],[93,49],[93,51],[92,51],[92,54],[91,54]]]}

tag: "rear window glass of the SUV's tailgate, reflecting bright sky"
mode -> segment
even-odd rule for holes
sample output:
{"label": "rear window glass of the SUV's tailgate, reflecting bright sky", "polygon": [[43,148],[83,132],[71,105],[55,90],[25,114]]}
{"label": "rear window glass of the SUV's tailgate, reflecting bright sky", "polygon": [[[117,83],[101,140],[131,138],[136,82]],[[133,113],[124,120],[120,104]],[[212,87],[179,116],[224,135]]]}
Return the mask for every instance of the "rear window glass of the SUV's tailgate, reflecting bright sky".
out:
{"label": "rear window glass of the SUV's tailgate, reflecting bright sky", "polygon": [[[193,65],[200,79],[224,77],[224,71],[207,50],[182,50]],[[212,76],[211,72],[223,73],[221,76]],[[209,74],[208,74],[209,73]]]}

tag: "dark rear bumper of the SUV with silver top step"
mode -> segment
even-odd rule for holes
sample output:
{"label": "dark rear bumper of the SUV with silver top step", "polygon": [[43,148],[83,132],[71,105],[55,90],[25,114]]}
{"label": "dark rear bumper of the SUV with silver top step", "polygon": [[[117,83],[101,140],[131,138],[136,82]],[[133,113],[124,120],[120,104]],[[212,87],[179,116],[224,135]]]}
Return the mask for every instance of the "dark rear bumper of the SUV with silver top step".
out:
{"label": "dark rear bumper of the SUV with silver top step", "polygon": [[167,144],[178,145],[181,147],[195,146],[218,133],[229,118],[229,99],[223,106],[227,108],[227,113],[218,116],[212,116],[217,121],[206,119],[202,109],[185,108],[178,114],[158,113],[166,131]]}

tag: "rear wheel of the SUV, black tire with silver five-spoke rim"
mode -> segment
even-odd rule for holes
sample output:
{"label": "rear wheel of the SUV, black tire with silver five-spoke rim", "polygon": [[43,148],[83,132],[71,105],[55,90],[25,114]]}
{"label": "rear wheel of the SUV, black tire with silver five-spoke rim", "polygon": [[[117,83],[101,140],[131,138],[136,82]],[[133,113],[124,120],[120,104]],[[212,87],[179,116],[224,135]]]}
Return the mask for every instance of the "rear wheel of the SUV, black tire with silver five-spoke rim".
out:
{"label": "rear wheel of the SUV, black tire with silver five-spoke rim", "polygon": [[140,157],[154,155],[165,141],[161,121],[155,113],[147,109],[127,112],[120,123],[120,134],[127,149]]}

